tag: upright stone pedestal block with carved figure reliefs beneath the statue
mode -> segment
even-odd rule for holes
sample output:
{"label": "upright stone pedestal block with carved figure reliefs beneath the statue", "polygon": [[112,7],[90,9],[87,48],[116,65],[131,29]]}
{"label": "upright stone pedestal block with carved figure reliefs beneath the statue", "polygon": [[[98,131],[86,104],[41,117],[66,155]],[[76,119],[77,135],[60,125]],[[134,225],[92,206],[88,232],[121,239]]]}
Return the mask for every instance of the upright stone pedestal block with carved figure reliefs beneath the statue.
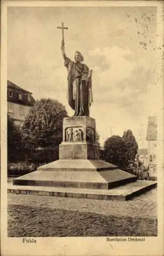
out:
{"label": "upright stone pedestal block with carved figure reliefs beneath the statue", "polygon": [[59,159],[99,159],[95,119],[85,116],[63,119],[63,142]]}

